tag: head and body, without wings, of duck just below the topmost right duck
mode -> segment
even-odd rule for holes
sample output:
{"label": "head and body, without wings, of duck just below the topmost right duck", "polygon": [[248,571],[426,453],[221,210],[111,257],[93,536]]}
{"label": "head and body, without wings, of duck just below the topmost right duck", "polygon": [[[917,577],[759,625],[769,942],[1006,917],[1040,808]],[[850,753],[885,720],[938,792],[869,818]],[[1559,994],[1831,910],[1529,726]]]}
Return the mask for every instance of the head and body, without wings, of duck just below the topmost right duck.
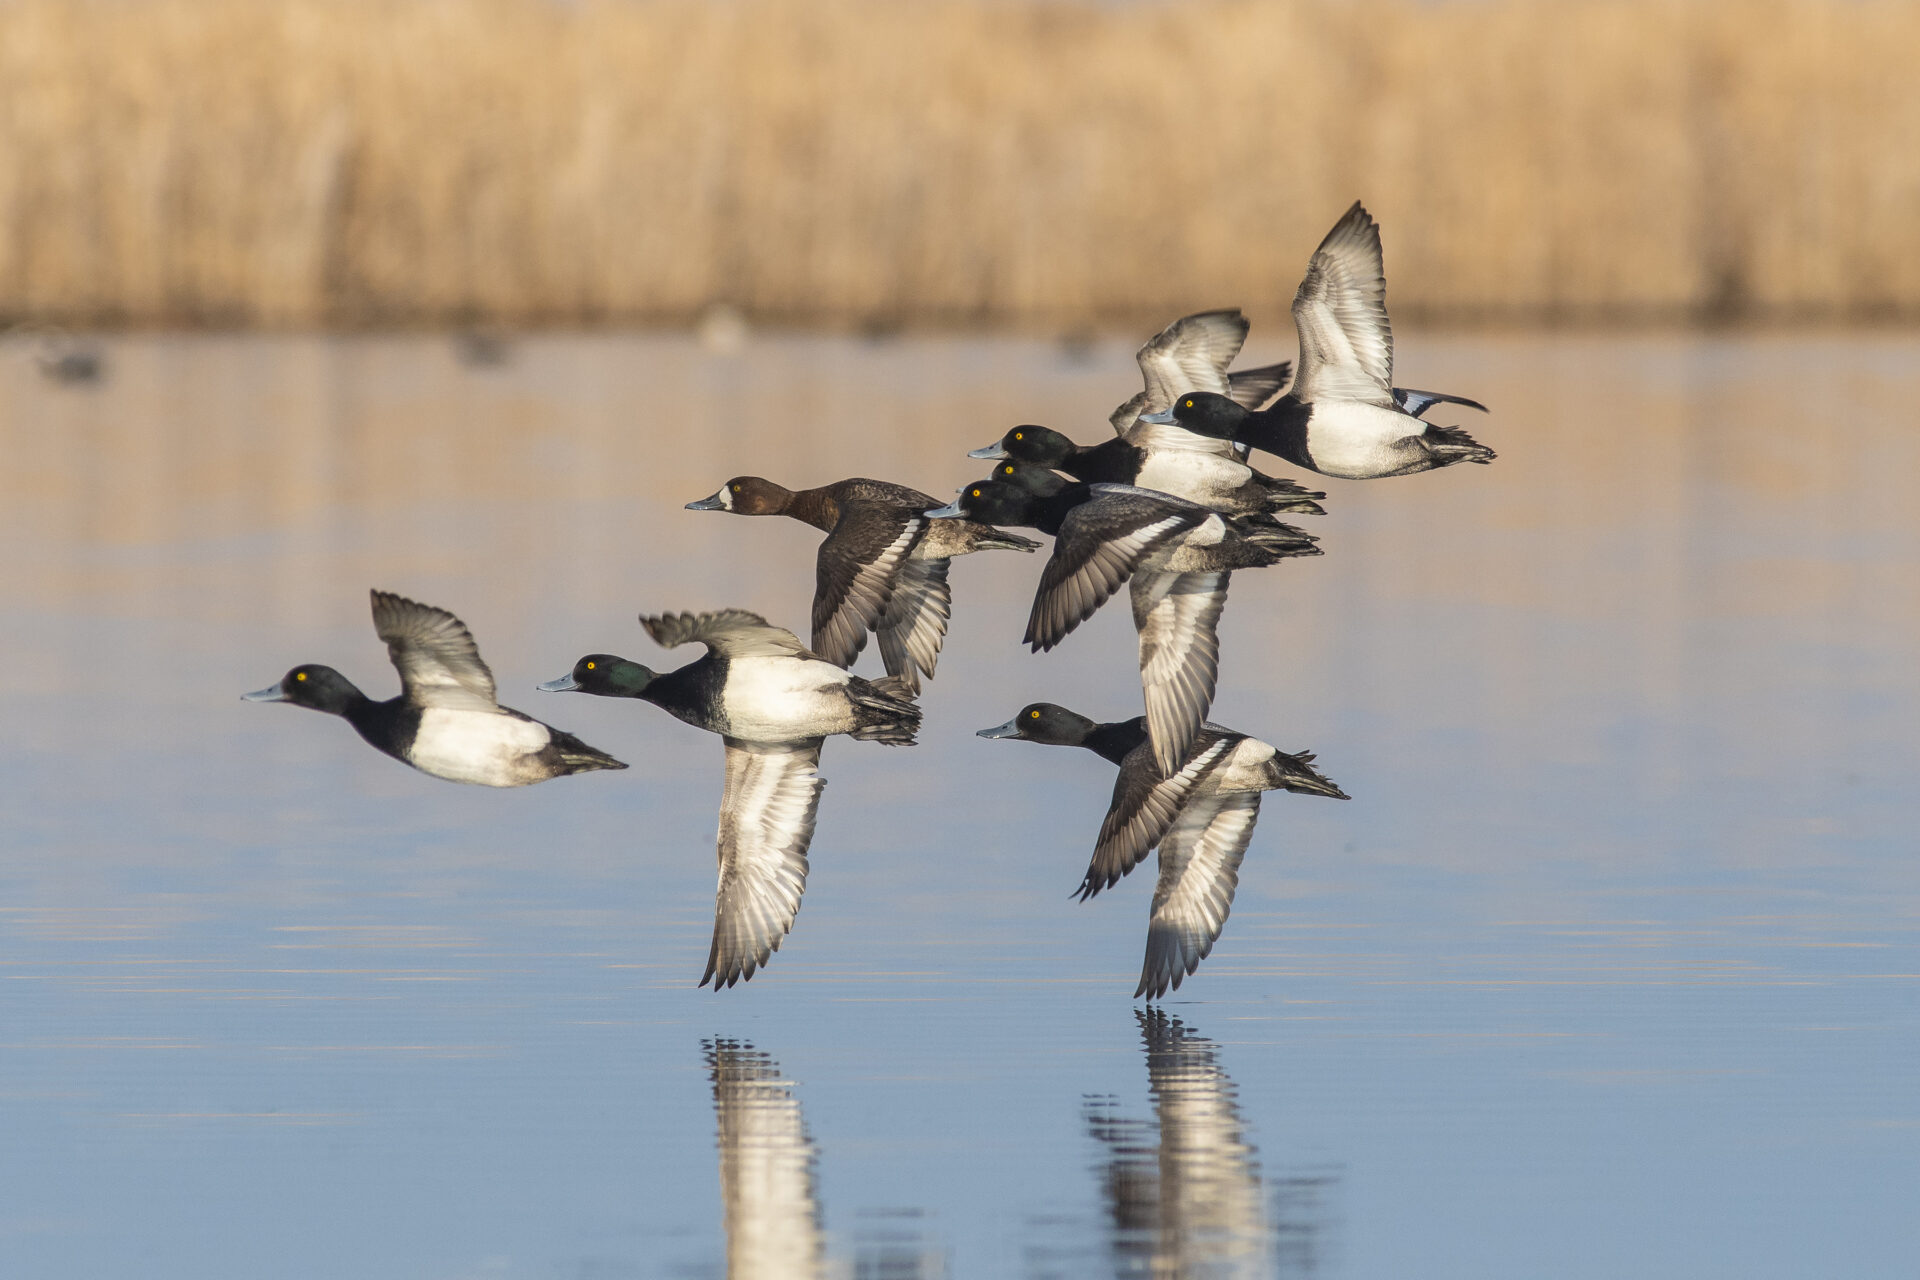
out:
{"label": "head and body, without wings, of duck just below the topmost right duck", "polygon": [[1154,426],[1081,447],[1052,428],[1021,424],[1002,436],[1000,443],[973,449],[968,457],[1064,470],[1087,484],[1158,489],[1229,514],[1325,514],[1325,507],[1313,501],[1327,497],[1325,493],[1263,476],[1231,451],[1204,447],[1188,432]]}

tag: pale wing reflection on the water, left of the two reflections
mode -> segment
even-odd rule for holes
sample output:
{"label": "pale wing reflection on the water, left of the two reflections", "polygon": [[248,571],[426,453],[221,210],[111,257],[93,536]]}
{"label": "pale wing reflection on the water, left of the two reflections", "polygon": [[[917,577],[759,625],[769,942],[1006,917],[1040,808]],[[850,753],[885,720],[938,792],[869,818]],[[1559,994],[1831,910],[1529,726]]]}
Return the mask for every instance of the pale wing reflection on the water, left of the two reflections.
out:
{"label": "pale wing reflection on the water, left of the two reflections", "polygon": [[743,1040],[708,1040],[728,1280],[820,1276],[820,1153],[793,1082]]}

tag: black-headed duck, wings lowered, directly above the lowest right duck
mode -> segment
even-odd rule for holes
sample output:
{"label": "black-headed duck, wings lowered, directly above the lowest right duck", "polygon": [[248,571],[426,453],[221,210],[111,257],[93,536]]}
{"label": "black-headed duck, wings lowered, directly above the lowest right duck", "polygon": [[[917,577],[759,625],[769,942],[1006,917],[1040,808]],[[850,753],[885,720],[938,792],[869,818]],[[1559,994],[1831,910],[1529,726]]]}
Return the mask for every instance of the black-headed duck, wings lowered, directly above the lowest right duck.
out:
{"label": "black-headed duck, wings lowered, directly above the lowest right duck", "polygon": [[1217,628],[1233,570],[1319,555],[1311,535],[1271,516],[1223,516],[1123,484],[1068,482],[1046,497],[981,480],[927,514],[1031,524],[1054,535],[1027,618],[1025,643],[1035,652],[1058,645],[1129,583],[1146,723],[1167,773],[1187,756],[1213,704]]}

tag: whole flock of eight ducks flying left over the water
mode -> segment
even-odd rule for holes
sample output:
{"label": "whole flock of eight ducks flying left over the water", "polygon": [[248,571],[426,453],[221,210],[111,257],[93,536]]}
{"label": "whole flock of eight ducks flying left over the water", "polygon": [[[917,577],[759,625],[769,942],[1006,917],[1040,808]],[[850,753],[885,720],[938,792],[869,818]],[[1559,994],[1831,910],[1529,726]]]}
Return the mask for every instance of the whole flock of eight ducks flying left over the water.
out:
{"label": "whole flock of eight ducks flying left over the water", "polygon": [[[1346,798],[1311,754],[1208,722],[1231,576],[1319,555],[1309,533],[1277,516],[1317,514],[1325,493],[1265,476],[1246,457],[1260,449],[1340,480],[1494,461],[1463,430],[1423,418],[1442,403],[1484,413],[1482,405],[1392,384],[1384,299],[1379,226],[1356,201],[1315,249],[1294,296],[1294,370],[1286,363],[1229,370],[1248,322],[1238,311],[1206,311],[1140,347],[1146,386],[1114,411],[1114,439],[1075,445],[1044,426],[1016,426],[970,455],[995,461],[995,470],[952,503],[879,480],[787,489],[760,476],[735,476],[687,503],[787,516],[826,533],[810,643],[743,608],[643,616],[660,647],[703,645],[705,656],[655,672],[588,654],[540,689],[639,699],[726,741],[720,885],[703,986],[751,979],[793,927],[824,787],[822,743],[841,733],[914,743],[914,699],[933,677],[952,612],[952,558],[1039,551],[1000,526],[1054,539],[1027,620],[1035,651],[1060,645],[1127,587],[1144,714],[1096,723],[1033,702],[979,737],[1085,747],[1119,768],[1079,896],[1110,889],[1158,848],[1135,996],[1164,996],[1198,969],[1233,906],[1261,794]],[[1286,393],[1261,409],[1281,388]],[[376,702],[313,664],[246,697],[342,716],[372,747],[457,783],[522,787],[626,768],[501,706],[472,633],[447,610],[374,591],[372,620],[399,672],[397,697]],[[847,670],[870,633],[887,670],[881,679]]]}

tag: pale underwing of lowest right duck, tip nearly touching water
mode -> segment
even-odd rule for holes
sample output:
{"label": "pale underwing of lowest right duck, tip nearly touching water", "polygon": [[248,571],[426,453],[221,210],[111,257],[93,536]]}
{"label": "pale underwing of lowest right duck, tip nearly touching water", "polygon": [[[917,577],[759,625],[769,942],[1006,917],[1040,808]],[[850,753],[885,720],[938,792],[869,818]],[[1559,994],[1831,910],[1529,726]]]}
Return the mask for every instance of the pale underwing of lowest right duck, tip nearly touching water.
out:
{"label": "pale underwing of lowest right duck, tip nearly touching water", "polygon": [[1258,818],[1258,791],[1215,793],[1192,800],[1160,839],[1160,883],[1135,998],[1179,990],[1213,950],[1233,910],[1240,860]]}

